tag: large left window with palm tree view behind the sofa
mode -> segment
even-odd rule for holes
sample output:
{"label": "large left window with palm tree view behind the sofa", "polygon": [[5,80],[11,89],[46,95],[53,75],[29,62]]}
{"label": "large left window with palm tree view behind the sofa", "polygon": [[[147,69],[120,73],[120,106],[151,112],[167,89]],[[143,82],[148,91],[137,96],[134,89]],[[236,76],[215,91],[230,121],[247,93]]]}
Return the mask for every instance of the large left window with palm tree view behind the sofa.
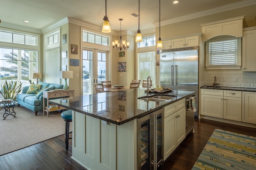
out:
{"label": "large left window with palm tree view behind the sofa", "polygon": [[1,29],[0,37],[0,86],[5,81],[29,85],[33,72],[38,72],[39,35]]}

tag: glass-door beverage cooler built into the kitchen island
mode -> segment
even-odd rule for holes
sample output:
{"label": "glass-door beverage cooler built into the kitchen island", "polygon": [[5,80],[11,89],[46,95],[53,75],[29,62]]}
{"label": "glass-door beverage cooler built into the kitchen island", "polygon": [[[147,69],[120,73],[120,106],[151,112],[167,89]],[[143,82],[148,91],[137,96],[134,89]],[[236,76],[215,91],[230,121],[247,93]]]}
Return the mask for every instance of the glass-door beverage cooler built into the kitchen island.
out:
{"label": "glass-door beverage cooler built into the kitchen island", "polygon": [[163,161],[162,113],[157,110],[137,121],[137,169],[156,170]]}

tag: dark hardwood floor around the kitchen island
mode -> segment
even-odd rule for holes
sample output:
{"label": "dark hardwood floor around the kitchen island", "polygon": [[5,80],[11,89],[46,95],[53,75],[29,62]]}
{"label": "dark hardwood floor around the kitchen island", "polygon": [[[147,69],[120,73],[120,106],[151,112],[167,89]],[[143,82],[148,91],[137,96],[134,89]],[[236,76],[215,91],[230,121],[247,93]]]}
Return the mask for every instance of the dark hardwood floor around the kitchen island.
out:
{"label": "dark hardwood floor around the kitchen island", "polygon": [[[190,133],[167,158],[161,170],[191,170],[214,129],[256,136],[256,129],[195,118]],[[72,141],[65,150],[64,135],[0,156],[0,170],[85,170],[72,160]]]}

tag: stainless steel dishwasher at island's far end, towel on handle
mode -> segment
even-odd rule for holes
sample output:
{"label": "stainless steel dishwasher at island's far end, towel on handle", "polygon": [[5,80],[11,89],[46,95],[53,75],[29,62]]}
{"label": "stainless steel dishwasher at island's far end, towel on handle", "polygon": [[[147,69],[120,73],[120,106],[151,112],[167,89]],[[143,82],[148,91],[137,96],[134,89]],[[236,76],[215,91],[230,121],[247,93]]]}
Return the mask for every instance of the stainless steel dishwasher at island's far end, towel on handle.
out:
{"label": "stainless steel dishwasher at island's far end, towel on handle", "polygon": [[[190,96],[186,98],[186,136],[192,132],[194,133],[194,110],[192,107],[192,97],[196,98],[197,96]],[[197,108],[198,109],[198,108]]]}

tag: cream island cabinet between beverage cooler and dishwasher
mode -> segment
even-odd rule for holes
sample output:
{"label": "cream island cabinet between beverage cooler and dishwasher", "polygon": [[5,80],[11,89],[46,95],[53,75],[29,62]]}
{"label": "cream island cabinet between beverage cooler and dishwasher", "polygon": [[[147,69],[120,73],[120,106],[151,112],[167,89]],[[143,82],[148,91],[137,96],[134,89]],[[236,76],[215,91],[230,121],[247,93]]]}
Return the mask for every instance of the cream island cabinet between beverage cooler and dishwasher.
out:
{"label": "cream island cabinet between beverage cooler and dishwasher", "polygon": [[164,160],[186,137],[186,100],[164,107]]}

